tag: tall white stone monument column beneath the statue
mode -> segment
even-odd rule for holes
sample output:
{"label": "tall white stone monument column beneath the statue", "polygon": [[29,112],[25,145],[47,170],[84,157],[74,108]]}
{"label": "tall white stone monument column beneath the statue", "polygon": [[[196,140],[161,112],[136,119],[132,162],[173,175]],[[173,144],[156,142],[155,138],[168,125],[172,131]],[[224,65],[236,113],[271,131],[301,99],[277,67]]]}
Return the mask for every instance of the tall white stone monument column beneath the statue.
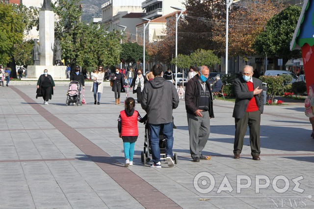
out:
{"label": "tall white stone monument column beneath the statue", "polygon": [[[50,4],[49,4],[50,5]],[[44,8],[39,11],[39,44],[40,44],[40,65],[53,65],[53,45],[54,45],[54,13]]]}

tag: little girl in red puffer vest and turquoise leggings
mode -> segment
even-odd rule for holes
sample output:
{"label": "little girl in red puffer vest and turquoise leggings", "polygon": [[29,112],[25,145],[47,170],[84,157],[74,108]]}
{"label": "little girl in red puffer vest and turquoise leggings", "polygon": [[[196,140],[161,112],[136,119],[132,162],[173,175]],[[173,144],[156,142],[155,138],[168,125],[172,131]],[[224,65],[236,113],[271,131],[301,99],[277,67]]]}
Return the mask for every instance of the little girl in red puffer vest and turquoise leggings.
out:
{"label": "little girl in red puffer vest and turquoise leggings", "polygon": [[129,97],[125,100],[125,110],[120,112],[118,118],[119,137],[123,139],[125,167],[133,165],[134,145],[138,137],[137,121],[145,121],[139,113],[134,110],[135,100]]}

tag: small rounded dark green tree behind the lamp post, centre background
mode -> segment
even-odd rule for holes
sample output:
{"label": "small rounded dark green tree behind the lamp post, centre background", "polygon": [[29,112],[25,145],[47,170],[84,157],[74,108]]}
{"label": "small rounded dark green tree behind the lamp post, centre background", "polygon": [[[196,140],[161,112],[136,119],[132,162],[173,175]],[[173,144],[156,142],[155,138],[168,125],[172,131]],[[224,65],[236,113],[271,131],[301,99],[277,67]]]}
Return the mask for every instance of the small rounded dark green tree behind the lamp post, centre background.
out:
{"label": "small rounded dark green tree behind the lamp post, centre background", "polygon": [[143,46],[140,46],[136,42],[135,43],[127,42],[122,44],[120,60],[127,63],[128,65],[136,62],[143,62]]}

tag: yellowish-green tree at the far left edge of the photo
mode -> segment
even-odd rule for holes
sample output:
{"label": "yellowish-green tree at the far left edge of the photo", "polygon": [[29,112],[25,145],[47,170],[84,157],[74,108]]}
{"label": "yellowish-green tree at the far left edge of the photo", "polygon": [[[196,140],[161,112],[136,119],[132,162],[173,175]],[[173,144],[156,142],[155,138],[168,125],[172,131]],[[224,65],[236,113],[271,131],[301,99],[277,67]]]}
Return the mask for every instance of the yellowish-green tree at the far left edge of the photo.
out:
{"label": "yellowish-green tree at the far left edge of the photo", "polygon": [[0,3],[0,63],[5,65],[13,60],[14,45],[22,42],[24,29],[23,17],[18,15],[14,6]]}

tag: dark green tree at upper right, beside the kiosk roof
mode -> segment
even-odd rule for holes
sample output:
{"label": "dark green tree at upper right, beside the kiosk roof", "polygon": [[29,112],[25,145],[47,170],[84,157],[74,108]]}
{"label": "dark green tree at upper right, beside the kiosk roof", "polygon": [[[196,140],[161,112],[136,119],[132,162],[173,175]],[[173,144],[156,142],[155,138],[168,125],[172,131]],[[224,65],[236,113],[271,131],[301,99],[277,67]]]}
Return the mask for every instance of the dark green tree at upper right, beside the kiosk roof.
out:
{"label": "dark green tree at upper right, beside the kiosk roof", "polygon": [[261,56],[283,58],[284,63],[288,59],[301,57],[300,50],[289,49],[300,13],[300,7],[288,6],[274,15],[267,22],[262,33],[255,38],[253,49]]}

